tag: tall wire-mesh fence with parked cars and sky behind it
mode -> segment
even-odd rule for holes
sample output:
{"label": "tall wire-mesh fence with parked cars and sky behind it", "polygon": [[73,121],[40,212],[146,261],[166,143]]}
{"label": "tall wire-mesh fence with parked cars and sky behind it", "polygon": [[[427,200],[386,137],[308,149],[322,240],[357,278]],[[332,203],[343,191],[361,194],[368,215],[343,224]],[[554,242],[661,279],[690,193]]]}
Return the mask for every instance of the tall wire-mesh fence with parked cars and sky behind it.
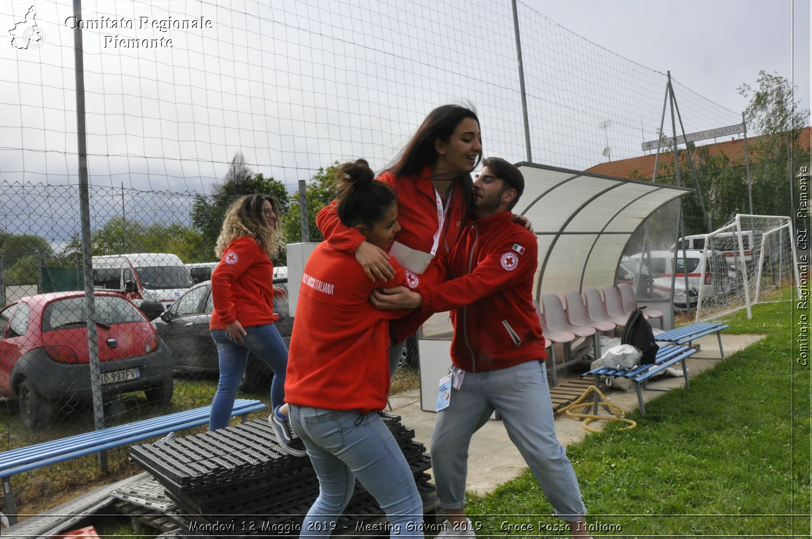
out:
{"label": "tall wire-mesh fence with parked cars and sky behind it", "polygon": [[[174,4],[84,2],[87,24],[71,22],[69,0],[39,2],[36,22],[28,6],[0,6],[9,19],[41,28],[36,47],[22,48],[23,37],[15,37],[19,54],[0,83],[0,450],[95,425],[88,312],[84,292],[76,293],[84,289],[81,158],[89,171],[102,412],[104,424],[113,425],[211,403],[218,368],[205,279],[235,196],[277,196],[287,239],[300,241],[308,228],[309,239],[318,240],[313,218],[333,198],[330,167],[365,157],[381,170],[425,114],[447,102],[475,106],[486,155],[512,162],[583,170],[607,161],[608,147],[620,162],[639,156],[641,142],[659,139],[667,75],[516,4],[514,14],[507,1],[376,0],[358,7],[190,0],[179,13]],[[192,19],[201,26],[184,26]],[[110,20],[123,22],[106,27]],[[77,27],[87,109],[81,158]],[[172,45],[161,45],[167,37]],[[685,131],[741,121],[741,112],[708,101],[674,75]],[[808,146],[806,153],[790,151],[789,141],[787,148],[783,161],[776,161],[784,154],[777,145],[770,166],[753,165],[754,179],[764,170],[769,180],[754,191],[756,205],[785,202],[784,170],[791,176],[789,163],[809,153]],[[680,222],[690,234],[745,209],[742,162],[708,157],[698,168],[699,181],[689,180],[686,168],[683,185],[706,189],[706,207],[691,199],[681,210],[668,205],[655,214],[629,242],[616,276],[641,294],[673,293],[677,307],[681,294],[686,309],[696,300],[690,287],[667,277],[667,263],[646,270],[635,256],[671,249]],[[628,170],[627,177],[650,179],[640,173]],[[307,185],[298,196],[300,181]],[[665,174],[659,181],[671,180]],[[284,253],[274,265],[286,265]],[[280,272],[274,281],[284,287],[286,278]],[[26,296],[37,297],[20,301]],[[287,342],[291,320],[284,300],[277,301]],[[268,402],[269,386],[267,368],[251,358],[241,389]]]}

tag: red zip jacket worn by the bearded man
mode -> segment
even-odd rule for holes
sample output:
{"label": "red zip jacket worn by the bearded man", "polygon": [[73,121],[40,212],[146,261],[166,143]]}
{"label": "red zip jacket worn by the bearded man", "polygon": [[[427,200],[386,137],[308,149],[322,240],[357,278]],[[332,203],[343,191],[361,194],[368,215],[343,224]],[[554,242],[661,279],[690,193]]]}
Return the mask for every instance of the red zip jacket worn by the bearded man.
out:
{"label": "red zip jacket worn by the bearded man", "polygon": [[[538,265],[536,236],[505,211],[477,219],[446,257],[440,284],[420,291],[421,311],[393,322],[397,340],[414,333],[429,313],[451,310],[451,360],[460,369],[505,369],[546,358],[542,326],[533,307]],[[435,282],[426,274],[425,282]]]}

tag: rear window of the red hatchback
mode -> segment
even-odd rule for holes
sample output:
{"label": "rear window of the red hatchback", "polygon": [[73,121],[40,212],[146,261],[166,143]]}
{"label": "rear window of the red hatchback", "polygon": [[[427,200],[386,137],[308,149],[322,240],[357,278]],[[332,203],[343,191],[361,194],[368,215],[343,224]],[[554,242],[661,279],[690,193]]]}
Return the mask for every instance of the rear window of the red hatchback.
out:
{"label": "rear window of the red hatchback", "polygon": [[[88,321],[84,301],[84,295],[52,301],[45,307],[42,330],[54,331],[86,325]],[[146,320],[135,305],[114,295],[97,295],[95,305],[96,321],[99,324],[112,326]]]}

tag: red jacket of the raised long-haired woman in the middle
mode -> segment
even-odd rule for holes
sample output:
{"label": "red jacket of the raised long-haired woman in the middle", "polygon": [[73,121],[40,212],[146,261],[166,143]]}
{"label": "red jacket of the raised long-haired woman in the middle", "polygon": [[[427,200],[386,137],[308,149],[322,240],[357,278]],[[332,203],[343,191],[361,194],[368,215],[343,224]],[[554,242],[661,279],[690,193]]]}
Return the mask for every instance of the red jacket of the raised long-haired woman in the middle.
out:
{"label": "red jacket of the raised long-haired woman in the middle", "polygon": [[[434,183],[431,182],[431,170],[428,166],[419,176],[395,176],[388,170],[378,176],[383,182],[395,188],[398,196],[398,222],[400,232],[395,240],[408,248],[422,252],[431,252],[434,234],[438,229],[437,199],[434,196]],[[456,243],[463,222],[462,188],[455,182],[451,188],[448,213],[443,223],[443,236],[436,256],[447,252]],[[354,254],[356,248],[364,241],[361,232],[343,226],[335,209],[335,201],[325,206],[316,217],[316,225],[325,238],[335,248]]]}

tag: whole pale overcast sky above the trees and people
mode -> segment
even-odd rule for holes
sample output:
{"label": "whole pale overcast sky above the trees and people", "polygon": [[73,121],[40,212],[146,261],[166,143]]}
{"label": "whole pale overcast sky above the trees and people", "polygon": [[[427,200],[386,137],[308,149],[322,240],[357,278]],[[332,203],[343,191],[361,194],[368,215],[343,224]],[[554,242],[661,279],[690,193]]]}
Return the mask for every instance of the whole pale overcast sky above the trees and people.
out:
{"label": "whole pale overcast sky above the trees and people", "polygon": [[[100,189],[206,192],[236,151],[291,189],[335,160],[379,170],[427,112],[463,100],[486,153],[582,170],[657,138],[668,70],[685,132],[739,123],[736,87],[761,69],[792,77],[810,106],[800,0],[518,2],[530,149],[510,0],[82,3]],[[0,185],[18,186],[0,201],[6,230],[75,222],[25,187],[78,182],[72,15],[71,0],[0,2]]]}

